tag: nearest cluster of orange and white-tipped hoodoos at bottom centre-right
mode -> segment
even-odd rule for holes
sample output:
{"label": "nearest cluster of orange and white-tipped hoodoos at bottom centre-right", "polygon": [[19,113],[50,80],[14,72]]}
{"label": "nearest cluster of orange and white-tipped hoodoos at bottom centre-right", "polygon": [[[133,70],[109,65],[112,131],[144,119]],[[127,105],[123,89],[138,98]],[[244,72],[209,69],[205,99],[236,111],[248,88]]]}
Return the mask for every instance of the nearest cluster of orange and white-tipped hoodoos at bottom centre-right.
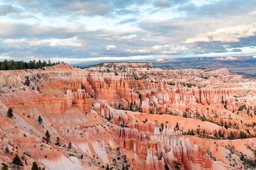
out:
{"label": "nearest cluster of orange and white-tipped hoodoos at bottom centre-right", "polygon": [[159,127],[155,127],[153,135],[149,132],[144,135],[137,129],[116,127],[115,136],[120,147],[133,150],[144,159],[147,170],[162,169],[164,164],[173,168],[173,161],[184,164],[186,170],[191,169],[191,161],[205,168],[211,166],[210,159],[205,157],[205,151],[199,149],[196,144],[192,147],[189,138],[186,138],[185,143],[182,133],[175,131],[173,127],[164,127],[162,132]]}

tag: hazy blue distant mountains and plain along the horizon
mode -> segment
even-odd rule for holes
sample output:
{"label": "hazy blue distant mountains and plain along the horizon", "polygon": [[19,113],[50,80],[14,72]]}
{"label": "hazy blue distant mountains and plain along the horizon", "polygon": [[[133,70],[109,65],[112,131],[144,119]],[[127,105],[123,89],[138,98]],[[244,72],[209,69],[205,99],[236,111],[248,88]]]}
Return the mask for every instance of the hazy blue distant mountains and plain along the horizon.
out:
{"label": "hazy blue distant mountains and plain along the horizon", "polygon": [[[131,60],[126,60],[131,61]],[[92,66],[109,61],[90,61],[71,66]],[[121,61],[115,61],[121,62]],[[135,62],[135,61],[132,61]],[[160,58],[155,60],[138,60],[136,62],[148,62],[161,69],[183,69],[183,68],[223,68],[226,67],[233,72],[256,73],[256,58],[253,56],[230,56],[230,57],[192,57],[192,58]]]}

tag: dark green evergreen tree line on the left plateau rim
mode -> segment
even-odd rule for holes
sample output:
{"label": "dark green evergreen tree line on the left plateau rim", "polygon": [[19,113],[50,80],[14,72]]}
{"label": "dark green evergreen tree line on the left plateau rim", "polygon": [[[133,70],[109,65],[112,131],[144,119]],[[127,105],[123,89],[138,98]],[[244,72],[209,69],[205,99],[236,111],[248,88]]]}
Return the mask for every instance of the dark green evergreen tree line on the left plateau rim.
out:
{"label": "dark green evergreen tree line on the left plateau rim", "polygon": [[0,69],[1,70],[17,70],[17,69],[42,69],[45,66],[55,66],[60,63],[64,63],[63,61],[60,62],[54,62],[52,63],[50,60],[48,63],[46,61],[14,61],[14,60],[5,60],[5,61],[0,61]]}

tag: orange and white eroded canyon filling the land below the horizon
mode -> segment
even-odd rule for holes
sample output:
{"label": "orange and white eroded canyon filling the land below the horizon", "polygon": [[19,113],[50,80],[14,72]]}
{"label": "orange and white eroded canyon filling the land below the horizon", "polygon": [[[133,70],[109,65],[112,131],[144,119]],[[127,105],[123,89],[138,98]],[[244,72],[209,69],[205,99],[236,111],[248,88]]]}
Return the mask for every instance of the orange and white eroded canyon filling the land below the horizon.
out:
{"label": "orange and white eroded canyon filling the land below the horizon", "polygon": [[0,112],[0,162],[9,169],[16,154],[25,170],[34,161],[45,170],[256,168],[256,80],[226,68],[0,71]]}

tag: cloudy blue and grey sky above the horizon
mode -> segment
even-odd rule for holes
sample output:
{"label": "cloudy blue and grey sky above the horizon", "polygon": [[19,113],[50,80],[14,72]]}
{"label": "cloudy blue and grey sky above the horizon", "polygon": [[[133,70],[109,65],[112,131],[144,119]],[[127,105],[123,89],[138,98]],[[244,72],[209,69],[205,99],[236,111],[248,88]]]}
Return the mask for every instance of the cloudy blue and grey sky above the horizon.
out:
{"label": "cloudy blue and grey sky above the horizon", "polygon": [[256,57],[255,0],[0,0],[0,61]]}

